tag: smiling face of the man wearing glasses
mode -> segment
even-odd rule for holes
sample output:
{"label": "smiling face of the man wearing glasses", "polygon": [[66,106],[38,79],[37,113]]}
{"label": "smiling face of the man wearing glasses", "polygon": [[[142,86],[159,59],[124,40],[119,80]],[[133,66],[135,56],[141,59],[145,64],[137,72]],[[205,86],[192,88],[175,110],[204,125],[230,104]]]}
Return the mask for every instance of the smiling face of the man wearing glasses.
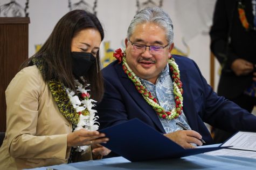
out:
{"label": "smiling face of the man wearing glasses", "polygon": [[[173,47],[173,43],[169,46],[165,37],[165,31],[154,23],[143,23],[135,27],[130,40],[126,43],[126,60],[130,69],[140,78],[146,79],[151,83],[156,83],[160,72],[165,68],[168,62],[168,54]],[[139,43],[147,46],[167,46],[161,49],[160,54],[152,54],[149,47],[144,52],[135,51],[135,45]],[[153,50],[154,48],[151,48]],[[154,52],[153,52],[154,53]]]}

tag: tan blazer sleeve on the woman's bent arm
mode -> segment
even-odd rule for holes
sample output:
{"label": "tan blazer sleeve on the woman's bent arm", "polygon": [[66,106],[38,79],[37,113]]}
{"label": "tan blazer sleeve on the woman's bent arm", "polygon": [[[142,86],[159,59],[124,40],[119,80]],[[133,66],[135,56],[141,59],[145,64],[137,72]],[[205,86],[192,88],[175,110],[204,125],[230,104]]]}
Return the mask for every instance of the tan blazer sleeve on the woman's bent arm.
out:
{"label": "tan blazer sleeve on the woman's bent arm", "polygon": [[5,91],[9,154],[13,158],[65,160],[69,155],[67,134],[36,136],[38,101],[47,84],[32,67],[17,73]]}

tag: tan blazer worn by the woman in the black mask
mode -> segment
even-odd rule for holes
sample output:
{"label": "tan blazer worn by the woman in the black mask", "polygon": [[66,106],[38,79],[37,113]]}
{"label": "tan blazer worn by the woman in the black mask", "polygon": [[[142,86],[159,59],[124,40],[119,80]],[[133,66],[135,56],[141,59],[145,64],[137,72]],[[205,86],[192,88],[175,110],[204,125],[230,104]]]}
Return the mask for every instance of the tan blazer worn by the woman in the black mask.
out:
{"label": "tan blazer worn by the woman in the black mask", "polygon": [[[67,162],[67,134],[72,132],[72,125],[60,113],[37,66],[19,71],[5,95],[7,127],[0,148],[0,169]],[[84,157],[91,160],[91,150]]]}

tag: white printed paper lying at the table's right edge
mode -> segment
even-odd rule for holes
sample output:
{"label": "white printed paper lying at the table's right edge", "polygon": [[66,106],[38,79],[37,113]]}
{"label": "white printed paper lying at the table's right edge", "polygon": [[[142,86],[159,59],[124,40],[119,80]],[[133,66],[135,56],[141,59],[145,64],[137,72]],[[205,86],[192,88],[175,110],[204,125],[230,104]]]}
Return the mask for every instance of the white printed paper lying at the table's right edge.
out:
{"label": "white printed paper lying at the table's right edge", "polygon": [[236,156],[256,159],[256,133],[239,131],[220,146],[231,146],[228,149],[207,152],[213,156]]}

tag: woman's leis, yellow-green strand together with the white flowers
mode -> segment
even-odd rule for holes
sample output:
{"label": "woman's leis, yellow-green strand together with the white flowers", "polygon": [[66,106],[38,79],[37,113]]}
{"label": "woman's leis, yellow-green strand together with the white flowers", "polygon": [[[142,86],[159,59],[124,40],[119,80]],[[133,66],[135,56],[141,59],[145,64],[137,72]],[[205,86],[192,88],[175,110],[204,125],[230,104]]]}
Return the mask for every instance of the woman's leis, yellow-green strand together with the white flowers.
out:
{"label": "woman's leis, yellow-green strand together with the white flowers", "polygon": [[[43,59],[33,58],[32,62],[44,74]],[[96,101],[89,99],[89,90],[85,90],[78,80],[74,81],[78,95],[75,95],[75,92],[70,88],[66,88],[59,80],[53,79],[47,81],[47,83],[60,112],[71,122],[74,131],[82,128],[89,131],[98,130],[99,123],[96,120],[99,116],[95,116],[96,110],[92,109],[95,106],[92,102]],[[86,151],[88,148],[89,146],[77,146],[76,151]]]}

